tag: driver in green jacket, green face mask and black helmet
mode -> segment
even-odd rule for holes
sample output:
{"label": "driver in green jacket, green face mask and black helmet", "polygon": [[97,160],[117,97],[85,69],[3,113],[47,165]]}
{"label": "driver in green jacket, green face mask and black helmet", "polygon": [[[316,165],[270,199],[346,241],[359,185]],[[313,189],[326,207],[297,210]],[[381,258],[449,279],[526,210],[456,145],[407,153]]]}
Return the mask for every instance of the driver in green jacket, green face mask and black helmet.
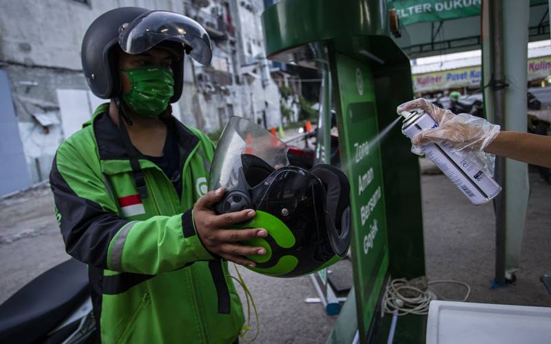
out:
{"label": "driver in green jacket, green face mask and black helmet", "polygon": [[227,261],[264,248],[238,241],[255,216],[216,215],[206,193],[214,144],[171,116],[183,58],[211,60],[207,32],[174,12],[117,8],[88,28],[83,72],[100,105],[59,147],[50,173],[65,249],[89,267],[97,341],[236,343],[240,300]]}

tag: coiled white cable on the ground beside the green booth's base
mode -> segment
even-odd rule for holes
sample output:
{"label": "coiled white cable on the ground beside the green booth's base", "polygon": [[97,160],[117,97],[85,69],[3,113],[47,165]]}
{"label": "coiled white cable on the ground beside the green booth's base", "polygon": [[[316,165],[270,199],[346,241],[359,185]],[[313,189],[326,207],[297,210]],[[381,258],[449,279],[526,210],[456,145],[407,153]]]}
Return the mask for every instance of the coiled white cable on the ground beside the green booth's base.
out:
{"label": "coiled white cable on the ground beside the green booth's base", "polygon": [[[419,280],[421,281],[419,283]],[[417,282],[417,283],[415,283]],[[435,284],[450,283],[458,284],[466,288],[467,292],[463,299],[446,299],[442,297],[438,292],[431,288]],[[441,279],[435,281],[426,282],[426,278],[414,279],[408,281],[407,279],[393,279],[386,286],[382,312],[397,314],[398,316],[406,314],[428,314],[428,305],[433,300],[444,301],[467,301],[470,295],[470,286],[467,283],[461,281],[454,281],[452,279]]]}

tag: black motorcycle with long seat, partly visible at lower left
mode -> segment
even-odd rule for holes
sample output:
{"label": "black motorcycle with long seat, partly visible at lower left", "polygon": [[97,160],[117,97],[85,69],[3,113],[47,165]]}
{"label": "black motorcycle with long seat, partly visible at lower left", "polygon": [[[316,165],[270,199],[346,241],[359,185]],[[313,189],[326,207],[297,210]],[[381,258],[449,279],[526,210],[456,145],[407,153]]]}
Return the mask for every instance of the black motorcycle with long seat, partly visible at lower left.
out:
{"label": "black motorcycle with long seat, partly visible at lower left", "polygon": [[69,259],[0,305],[0,343],[86,343],[96,330],[85,264]]}

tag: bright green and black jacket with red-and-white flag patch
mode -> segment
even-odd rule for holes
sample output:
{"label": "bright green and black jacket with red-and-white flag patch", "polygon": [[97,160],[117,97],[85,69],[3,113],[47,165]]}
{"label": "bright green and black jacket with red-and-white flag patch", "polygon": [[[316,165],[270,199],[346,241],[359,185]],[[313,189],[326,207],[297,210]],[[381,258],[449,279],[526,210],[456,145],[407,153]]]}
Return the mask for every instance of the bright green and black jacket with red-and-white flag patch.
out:
{"label": "bright green and black jacket with red-and-white flag patch", "polygon": [[214,144],[167,120],[178,140],[182,197],[139,159],[147,197],[107,104],[59,147],[50,183],[67,252],[89,265],[103,343],[233,343],[243,324],[227,262],[202,246],[191,208],[207,192]]}

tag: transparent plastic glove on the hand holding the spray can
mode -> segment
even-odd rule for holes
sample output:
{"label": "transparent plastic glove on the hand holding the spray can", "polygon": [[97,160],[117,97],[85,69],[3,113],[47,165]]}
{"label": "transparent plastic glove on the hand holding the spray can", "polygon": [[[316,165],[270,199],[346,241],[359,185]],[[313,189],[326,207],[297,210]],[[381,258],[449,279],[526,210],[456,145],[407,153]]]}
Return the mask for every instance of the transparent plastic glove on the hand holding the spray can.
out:
{"label": "transparent plastic glove on the hand holding the spray can", "polygon": [[453,148],[455,153],[479,165],[486,173],[493,174],[495,156],[484,152],[499,134],[499,125],[492,125],[484,118],[469,114],[453,114],[444,110],[424,98],[411,100],[397,108],[398,114],[402,111],[422,109],[438,122],[435,129],[427,129],[411,140],[411,151],[423,154],[423,145],[429,142],[439,142]]}

